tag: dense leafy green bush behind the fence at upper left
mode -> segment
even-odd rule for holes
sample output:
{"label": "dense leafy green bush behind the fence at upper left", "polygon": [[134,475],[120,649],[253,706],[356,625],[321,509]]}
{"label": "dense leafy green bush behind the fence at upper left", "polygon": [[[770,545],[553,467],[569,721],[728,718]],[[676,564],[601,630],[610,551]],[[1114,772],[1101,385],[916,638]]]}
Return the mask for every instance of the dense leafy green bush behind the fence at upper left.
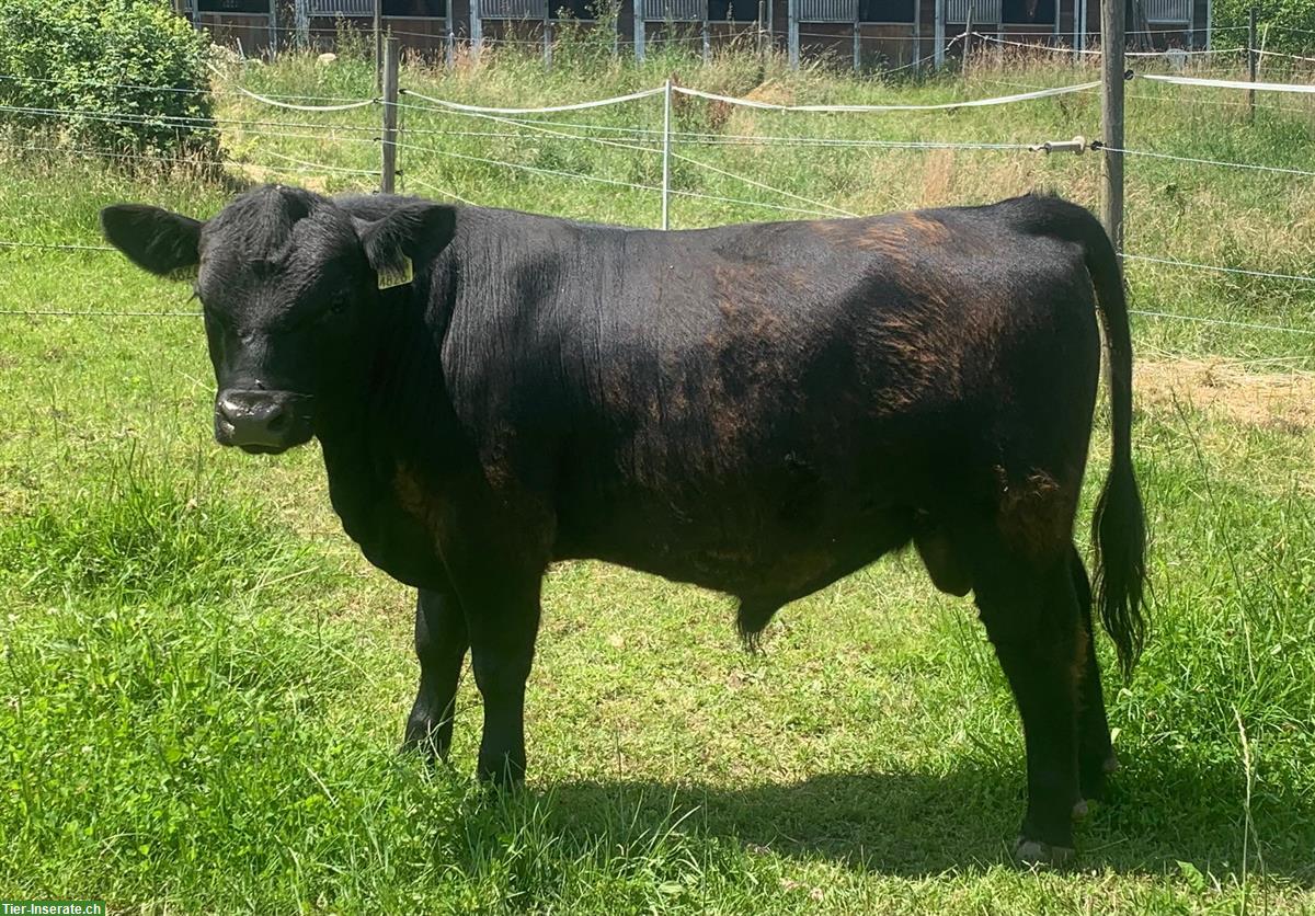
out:
{"label": "dense leafy green bush behind the fence at upper left", "polygon": [[209,43],[160,0],[5,0],[0,112],[24,131],[114,152],[209,156]]}

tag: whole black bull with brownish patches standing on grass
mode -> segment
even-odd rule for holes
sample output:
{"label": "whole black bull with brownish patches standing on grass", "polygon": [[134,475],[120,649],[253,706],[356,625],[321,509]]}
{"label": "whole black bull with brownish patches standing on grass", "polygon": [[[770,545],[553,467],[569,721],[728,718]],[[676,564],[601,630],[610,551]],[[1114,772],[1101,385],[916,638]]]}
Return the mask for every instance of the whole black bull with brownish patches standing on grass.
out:
{"label": "whole black bull with brownish patches standing on grass", "polygon": [[[1052,197],[658,233],[266,187],[201,223],[108,208],[156,273],[196,267],[216,436],[317,436],[366,556],[419,589],[409,744],[442,754],[467,651],[479,771],[525,771],[544,569],[597,557],[785,603],[917,545],[973,593],[1023,719],[1018,853],[1063,859],[1115,757],[1093,605],[1141,645],[1143,509],[1122,277]],[[380,289],[412,262],[413,279]],[[1101,363],[1112,460],[1073,544]]]}

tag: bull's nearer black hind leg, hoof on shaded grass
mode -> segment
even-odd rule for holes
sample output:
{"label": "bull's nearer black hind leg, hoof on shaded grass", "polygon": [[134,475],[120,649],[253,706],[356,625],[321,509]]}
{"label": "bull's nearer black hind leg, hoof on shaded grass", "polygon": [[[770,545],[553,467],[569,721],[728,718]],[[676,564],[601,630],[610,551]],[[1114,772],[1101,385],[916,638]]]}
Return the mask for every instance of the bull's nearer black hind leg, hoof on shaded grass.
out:
{"label": "bull's nearer black hind leg, hoof on shaded grass", "polygon": [[1049,561],[1007,549],[988,535],[973,564],[986,632],[1014,691],[1027,745],[1027,815],[1016,854],[1063,863],[1073,856],[1077,698],[1086,657],[1066,556]]}

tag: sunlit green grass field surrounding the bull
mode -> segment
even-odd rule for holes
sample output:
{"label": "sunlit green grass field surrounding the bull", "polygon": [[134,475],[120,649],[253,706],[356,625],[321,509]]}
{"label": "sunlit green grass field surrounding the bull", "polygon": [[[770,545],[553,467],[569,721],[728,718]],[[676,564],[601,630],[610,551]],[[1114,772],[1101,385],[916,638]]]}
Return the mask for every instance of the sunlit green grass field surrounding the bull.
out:
{"label": "sunlit green grass field surrounding the bull", "polygon": [[[547,75],[512,55],[450,75],[416,66],[402,85],[533,105],[673,72],[780,101],[940,101],[1090,79],[1026,62],[903,84],[731,57],[635,70],[588,42],[558,63]],[[322,166],[377,168],[376,112],[272,110],[238,83],[366,97],[367,67],[229,67],[221,110],[229,184],[372,185]],[[1130,149],[1315,171],[1310,103],[1262,99],[1249,122],[1224,92],[1136,80],[1130,92]],[[648,100],[548,124],[564,122],[651,146],[634,130],[659,129],[661,110]],[[681,138],[689,159],[852,212],[1035,187],[1095,202],[1091,155],[693,142],[1091,137],[1091,93],[860,117],[689,103],[677,125],[709,135]],[[418,108],[404,109],[402,142],[408,191],[658,218],[651,192],[451,155],[651,185],[651,152]],[[208,214],[229,195],[185,168],[22,146],[0,151],[0,239],[95,244],[104,204]],[[675,181],[814,209],[684,159]],[[1130,158],[1127,250],[1311,273],[1311,181]],[[677,227],[786,216],[673,204]],[[555,568],[529,785],[489,796],[472,779],[469,678],[451,767],[396,753],[417,676],[413,595],[342,535],[314,446],[263,459],[213,444],[195,318],[0,314],[0,899],[100,896],[153,913],[1315,912],[1311,286],[1152,264],[1130,281],[1144,311],[1307,332],[1135,322],[1153,631],[1130,683],[1107,676],[1124,762],[1114,798],[1080,827],[1078,867],[1039,874],[1009,856],[1023,791],[1009,690],[970,602],[939,595],[915,557],[789,606],[761,654],[740,651],[729,599],[601,564]],[[7,311],[187,310],[188,292],[116,255],[0,248]],[[1106,451],[1102,418],[1089,490]]]}

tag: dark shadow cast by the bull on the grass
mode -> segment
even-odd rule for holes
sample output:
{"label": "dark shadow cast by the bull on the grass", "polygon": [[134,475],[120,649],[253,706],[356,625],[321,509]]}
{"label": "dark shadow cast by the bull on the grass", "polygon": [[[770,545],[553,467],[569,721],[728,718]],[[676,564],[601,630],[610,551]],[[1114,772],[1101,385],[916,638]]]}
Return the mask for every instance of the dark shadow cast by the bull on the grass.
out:
{"label": "dark shadow cast by the bull on the grass", "polygon": [[[1022,765],[1022,761],[1019,761]],[[965,764],[949,774],[835,773],[743,789],[668,782],[573,782],[531,792],[568,841],[680,829],[847,867],[903,877],[1011,862],[1023,774]],[[1110,800],[1077,825],[1078,866],[1180,873],[1191,862],[1241,878],[1245,774],[1155,754],[1115,775]],[[1258,841],[1258,848],[1257,848]],[[1257,856],[1258,849],[1258,856]],[[1315,888],[1315,799],[1294,786],[1253,789],[1247,871]]]}

